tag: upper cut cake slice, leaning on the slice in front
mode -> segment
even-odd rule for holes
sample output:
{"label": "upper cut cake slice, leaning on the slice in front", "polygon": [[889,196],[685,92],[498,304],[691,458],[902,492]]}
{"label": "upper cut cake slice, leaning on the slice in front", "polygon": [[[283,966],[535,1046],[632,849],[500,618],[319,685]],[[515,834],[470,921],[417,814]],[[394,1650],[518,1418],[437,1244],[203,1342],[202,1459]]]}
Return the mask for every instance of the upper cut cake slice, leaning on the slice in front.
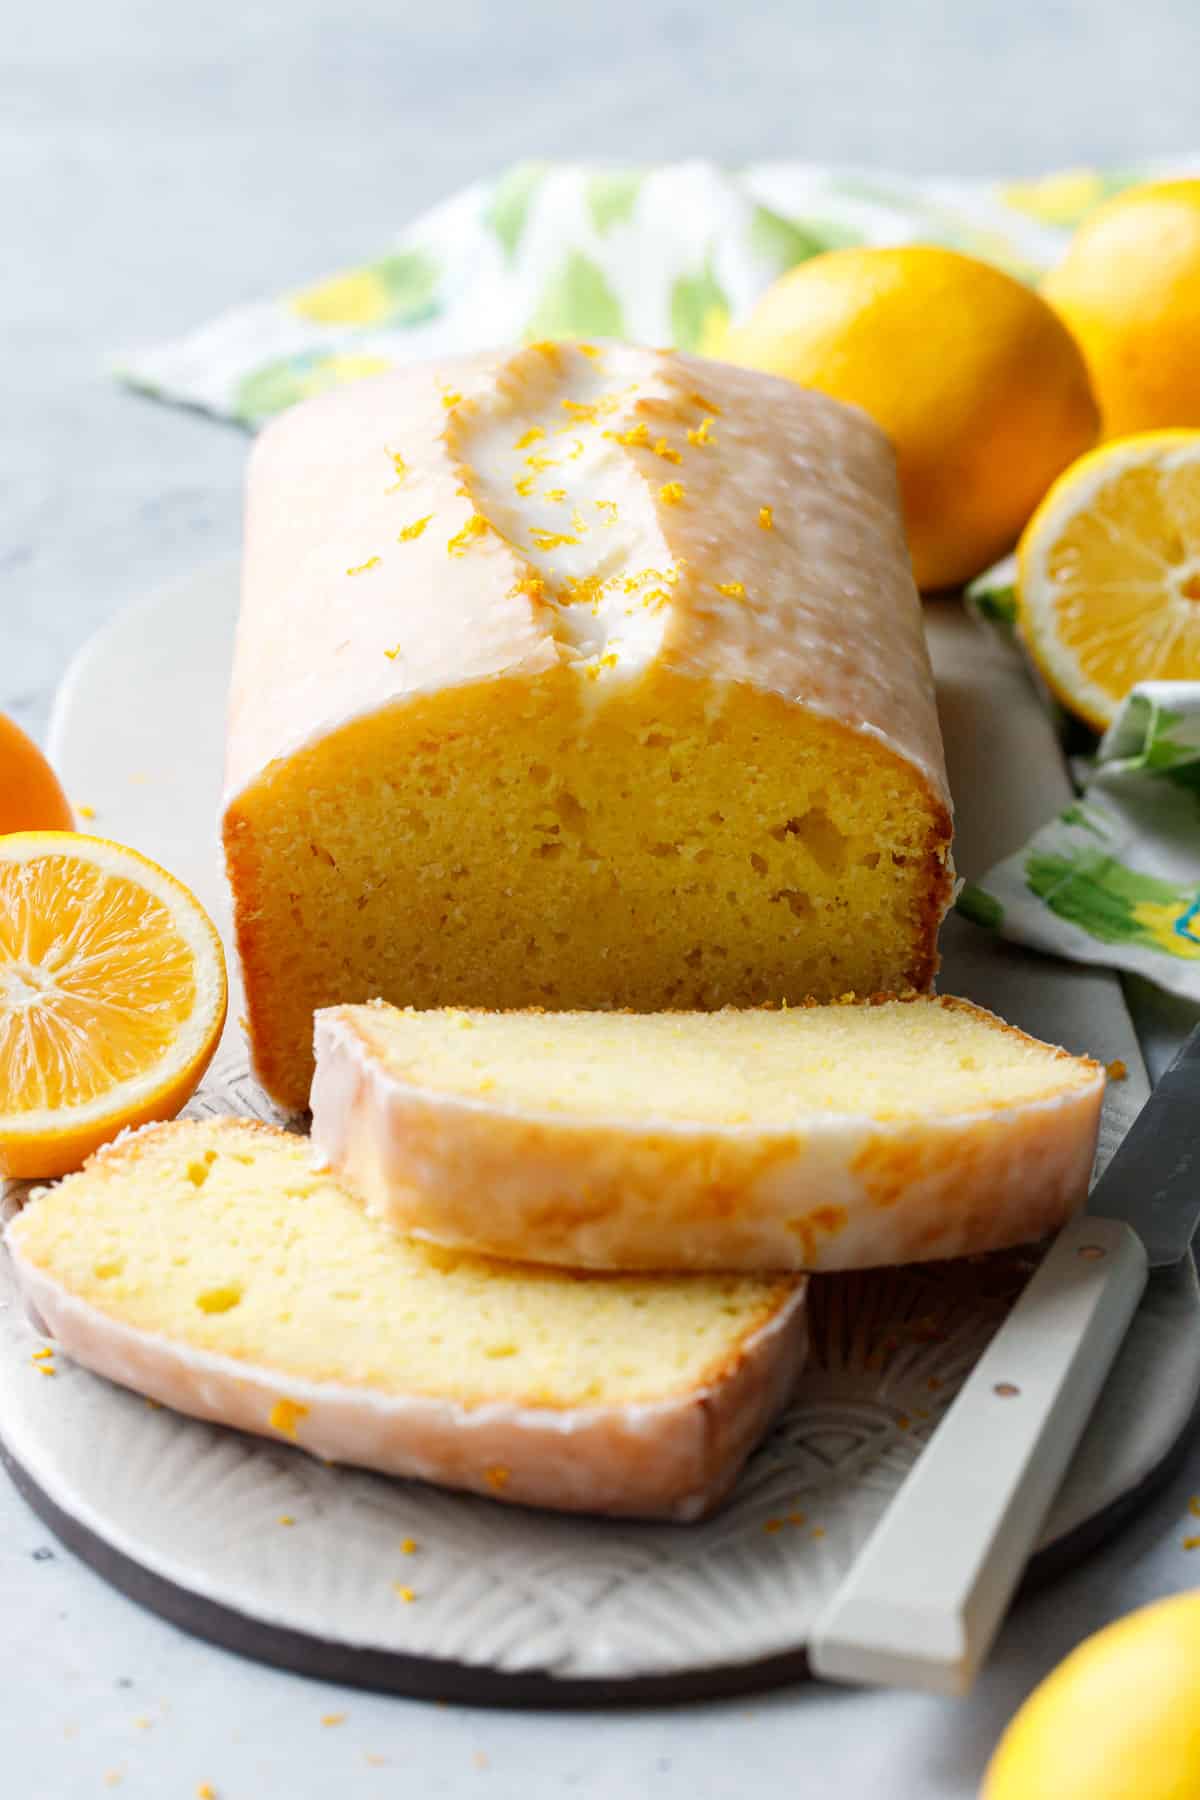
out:
{"label": "upper cut cake slice, leaning on the slice in front", "polygon": [[1105,1075],[955,999],[317,1015],[313,1147],[376,1219],[590,1269],[1000,1249],[1087,1193]]}

